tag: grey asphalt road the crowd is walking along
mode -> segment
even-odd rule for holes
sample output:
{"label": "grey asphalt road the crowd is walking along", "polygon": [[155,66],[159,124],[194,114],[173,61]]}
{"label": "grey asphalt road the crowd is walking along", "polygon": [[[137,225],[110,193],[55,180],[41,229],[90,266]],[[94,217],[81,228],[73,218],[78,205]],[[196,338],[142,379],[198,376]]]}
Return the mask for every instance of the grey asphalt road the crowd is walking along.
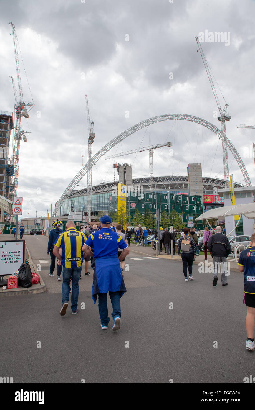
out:
{"label": "grey asphalt road the crowd is walking along", "polygon": [[[0,299],[0,376],[13,383],[244,383],[255,375],[242,274],[231,272],[228,286],[219,280],[213,287],[212,274],[194,265],[195,280],[185,282],[181,262],[130,252],[121,328],[113,332],[100,328],[92,274],[80,280],[80,312],[68,307],[60,316],[62,282],[39,262],[50,261],[47,237],[25,241],[47,292]],[[110,316],[110,302],[108,308]]]}

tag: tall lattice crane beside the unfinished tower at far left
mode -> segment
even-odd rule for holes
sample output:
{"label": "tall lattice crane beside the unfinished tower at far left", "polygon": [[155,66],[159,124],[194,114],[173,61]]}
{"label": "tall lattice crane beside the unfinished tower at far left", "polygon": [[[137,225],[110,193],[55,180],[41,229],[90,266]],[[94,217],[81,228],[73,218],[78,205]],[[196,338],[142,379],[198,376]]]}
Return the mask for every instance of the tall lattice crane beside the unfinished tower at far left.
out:
{"label": "tall lattice crane beside the unfinished tower at far left", "polygon": [[[20,153],[20,140],[27,141],[27,137],[25,133],[28,131],[23,131],[21,129],[21,117],[29,118],[28,110],[26,107],[33,107],[34,103],[24,103],[23,100],[23,92],[21,86],[21,78],[20,78],[20,65],[18,61],[18,38],[16,34],[15,25],[9,22],[12,27],[12,36],[14,42],[14,54],[15,54],[15,62],[16,62],[16,71],[17,71],[17,78],[18,78],[18,96],[16,87],[14,84],[13,77],[10,76],[12,81],[12,86],[14,89],[14,97],[15,97],[15,110],[16,110],[16,122],[15,122],[15,129],[14,129],[14,140],[13,140],[13,151],[12,151],[12,159],[11,165],[14,166],[14,175],[11,179],[11,187],[12,191],[10,191],[9,199],[12,200],[14,196],[17,196],[18,191],[18,167],[19,167],[19,153]],[[30,108],[30,109],[31,109]]]}

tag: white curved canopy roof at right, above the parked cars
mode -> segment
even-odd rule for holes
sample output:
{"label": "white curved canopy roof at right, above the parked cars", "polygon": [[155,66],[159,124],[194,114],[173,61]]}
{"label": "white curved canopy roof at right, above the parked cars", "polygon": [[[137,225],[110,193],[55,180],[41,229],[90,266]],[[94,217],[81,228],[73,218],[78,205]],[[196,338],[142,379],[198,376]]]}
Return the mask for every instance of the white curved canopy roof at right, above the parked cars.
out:
{"label": "white curved canopy roof at right, above the parked cars", "polygon": [[217,219],[224,216],[244,215],[248,219],[255,219],[255,203],[228,205],[211,209],[198,216],[196,221],[203,221],[206,219]]}

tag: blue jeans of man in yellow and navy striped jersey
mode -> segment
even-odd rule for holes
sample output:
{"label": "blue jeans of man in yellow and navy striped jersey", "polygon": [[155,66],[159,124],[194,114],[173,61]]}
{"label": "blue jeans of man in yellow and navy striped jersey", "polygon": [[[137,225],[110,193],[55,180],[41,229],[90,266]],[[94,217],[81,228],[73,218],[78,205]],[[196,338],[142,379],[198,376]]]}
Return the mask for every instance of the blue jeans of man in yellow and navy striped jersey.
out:
{"label": "blue jeans of man in yellow and navy striped jersey", "polygon": [[62,283],[62,303],[69,301],[69,285],[72,276],[72,305],[74,312],[78,307],[79,297],[79,279],[81,275],[81,266],[78,268],[64,268],[63,266],[63,283]]}

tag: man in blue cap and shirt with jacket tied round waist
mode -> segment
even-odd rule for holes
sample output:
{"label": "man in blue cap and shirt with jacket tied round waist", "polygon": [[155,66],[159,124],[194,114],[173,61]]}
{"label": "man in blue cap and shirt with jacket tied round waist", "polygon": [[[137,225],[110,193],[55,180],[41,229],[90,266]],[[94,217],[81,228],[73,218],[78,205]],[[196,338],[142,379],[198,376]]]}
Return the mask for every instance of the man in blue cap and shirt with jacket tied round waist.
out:
{"label": "man in blue cap and shirt with jacket tied round waist", "polygon": [[[120,329],[120,298],[126,292],[120,262],[129,254],[129,248],[122,237],[111,230],[112,220],[110,216],[104,215],[99,221],[102,223],[102,229],[91,234],[82,249],[84,256],[93,256],[93,262],[95,262],[92,298],[96,303],[98,296],[101,328],[108,329],[110,321],[107,307],[107,294],[109,292],[113,306],[113,331],[115,331]],[[94,255],[90,248],[94,248]],[[118,248],[123,249],[119,258]]]}

